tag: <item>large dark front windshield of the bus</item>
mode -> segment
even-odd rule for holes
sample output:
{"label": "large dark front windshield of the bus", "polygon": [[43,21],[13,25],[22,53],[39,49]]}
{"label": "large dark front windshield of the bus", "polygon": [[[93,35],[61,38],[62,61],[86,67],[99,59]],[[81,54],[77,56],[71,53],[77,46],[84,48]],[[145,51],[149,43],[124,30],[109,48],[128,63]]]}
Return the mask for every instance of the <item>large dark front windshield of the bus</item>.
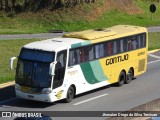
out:
{"label": "large dark front windshield of the bus", "polygon": [[49,66],[54,57],[54,52],[22,49],[17,64],[16,83],[30,87],[50,87]]}

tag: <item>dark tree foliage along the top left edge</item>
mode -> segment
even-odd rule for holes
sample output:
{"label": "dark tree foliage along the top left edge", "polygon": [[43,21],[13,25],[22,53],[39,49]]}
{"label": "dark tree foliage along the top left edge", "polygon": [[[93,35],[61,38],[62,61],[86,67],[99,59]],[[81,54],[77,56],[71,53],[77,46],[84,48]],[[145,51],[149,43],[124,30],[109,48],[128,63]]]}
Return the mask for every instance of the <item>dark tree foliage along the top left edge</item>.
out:
{"label": "dark tree foliage along the top left edge", "polygon": [[53,10],[94,2],[96,0],[0,0],[0,10],[18,12],[37,11],[41,9]]}

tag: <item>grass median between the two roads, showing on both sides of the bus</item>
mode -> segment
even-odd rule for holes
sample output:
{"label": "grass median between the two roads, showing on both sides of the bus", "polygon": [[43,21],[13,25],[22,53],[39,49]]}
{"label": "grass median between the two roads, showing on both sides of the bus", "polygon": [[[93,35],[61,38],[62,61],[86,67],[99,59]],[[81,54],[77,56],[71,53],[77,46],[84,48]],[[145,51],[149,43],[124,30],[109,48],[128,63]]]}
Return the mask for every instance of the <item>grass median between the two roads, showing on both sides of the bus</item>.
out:
{"label": "grass median between the two roads, showing on both sides of the bus", "polygon": [[[18,56],[23,45],[37,40],[0,40],[0,83],[14,80],[15,70],[9,69],[9,59]],[[149,50],[158,48],[160,48],[160,33],[149,33]]]}

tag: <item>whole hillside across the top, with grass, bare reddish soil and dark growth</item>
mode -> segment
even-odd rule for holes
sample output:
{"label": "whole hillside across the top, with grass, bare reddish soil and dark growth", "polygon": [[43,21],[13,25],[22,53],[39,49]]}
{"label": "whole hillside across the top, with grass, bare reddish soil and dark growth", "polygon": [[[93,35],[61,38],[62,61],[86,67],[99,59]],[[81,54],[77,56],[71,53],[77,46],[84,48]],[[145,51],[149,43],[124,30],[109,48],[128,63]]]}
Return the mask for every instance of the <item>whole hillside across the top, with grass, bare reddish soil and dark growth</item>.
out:
{"label": "whole hillside across the top, with grass, bare reddish soil and dark growth", "polygon": [[[140,26],[160,24],[160,4],[157,0],[154,2],[157,11],[153,15],[153,20],[149,12],[149,5],[152,3],[150,0],[61,0],[64,1],[63,4],[42,4],[47,0],[27,0],[32,1],[28,7],[25,7],[26,0],[15,0],[18,1],[14,3],[15,7],[12,1],[14,0],[8,3],[7,9],[1,7],[0,34],[41,33],[57,29],[80,31],[117,24]],[[33,1],[39,2],[33,4]]]}

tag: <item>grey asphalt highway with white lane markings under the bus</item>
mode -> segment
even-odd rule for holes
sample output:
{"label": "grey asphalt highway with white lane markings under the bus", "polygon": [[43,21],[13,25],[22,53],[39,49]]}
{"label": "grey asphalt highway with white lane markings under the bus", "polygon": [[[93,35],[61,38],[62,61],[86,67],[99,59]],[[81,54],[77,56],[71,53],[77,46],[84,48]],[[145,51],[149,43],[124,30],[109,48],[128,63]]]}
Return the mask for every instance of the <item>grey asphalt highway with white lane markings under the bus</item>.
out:
{"label": "grey asphalt highway with white lane markings under the bus", "polygon": [[[155,55],[155,54],[152,54]],[[160,98],[160,58],[149,55],[147,72],[122,87],[106,86],[77,96],[71,103],[42,103],[15,98],[13,86],[0,90],[0,111],[126,111]],[[54,114],[54,112],[53,112]],[[53,118],[53,120],[104,120]],[[1,118],[12,120],[12,118]]]}

